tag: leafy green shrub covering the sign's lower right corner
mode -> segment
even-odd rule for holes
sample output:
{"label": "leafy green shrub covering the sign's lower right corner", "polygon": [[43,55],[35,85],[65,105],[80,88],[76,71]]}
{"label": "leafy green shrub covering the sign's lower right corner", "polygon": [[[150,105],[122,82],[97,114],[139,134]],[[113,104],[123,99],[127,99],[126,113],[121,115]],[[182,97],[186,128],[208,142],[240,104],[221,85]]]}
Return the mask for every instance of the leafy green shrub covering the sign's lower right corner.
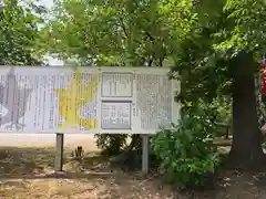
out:
{"label": "leafy green shrub covering the sign's lower right corner", "polygon": [[152,140],[161,159],[160,172],[180,188],[204,186],[221,163],[213,149],[215,121],[200,105],[194,104],[182,114],[177,126],[160,132]]}

